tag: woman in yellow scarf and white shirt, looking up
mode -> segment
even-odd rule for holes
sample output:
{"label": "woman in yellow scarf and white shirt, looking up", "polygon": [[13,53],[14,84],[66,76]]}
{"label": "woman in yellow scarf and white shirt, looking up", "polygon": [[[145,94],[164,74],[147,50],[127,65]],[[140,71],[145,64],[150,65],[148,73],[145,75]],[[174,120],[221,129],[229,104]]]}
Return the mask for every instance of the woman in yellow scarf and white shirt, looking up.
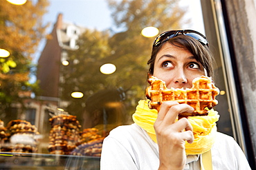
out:
{"label": "woman in yellow scarf and white shirt, looking up", "polygon": [[[194,30],[159,35],[148,64],[149,74],[168,88],[190,88],[194,78],[213,73],[208,41]],[[235,140],[217,132],[217,111],[177,120],[179,113],[193,110],[167,101],[157,112],[140,100],[135,123],[113,129],[105,138],[101,169],[250,169]]]}

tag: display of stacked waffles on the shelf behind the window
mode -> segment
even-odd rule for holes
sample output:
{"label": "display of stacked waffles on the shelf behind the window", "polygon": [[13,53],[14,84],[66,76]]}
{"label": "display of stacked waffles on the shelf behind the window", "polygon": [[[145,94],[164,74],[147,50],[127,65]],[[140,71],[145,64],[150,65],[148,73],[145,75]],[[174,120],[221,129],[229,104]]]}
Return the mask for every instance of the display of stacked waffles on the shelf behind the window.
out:
{"label": "display of stacked waffles on the shelf behind the window", "polygon": [[[58,114],[49,119],[46,153],[40,153],[42,135],[26,120],[0,121],[0,169],[99,169],[104,137],[98,129],[82,131],[76,116]],[[42,146],[41,146],[42,147]],[[45,149],[41,149],[43,152]]]}

